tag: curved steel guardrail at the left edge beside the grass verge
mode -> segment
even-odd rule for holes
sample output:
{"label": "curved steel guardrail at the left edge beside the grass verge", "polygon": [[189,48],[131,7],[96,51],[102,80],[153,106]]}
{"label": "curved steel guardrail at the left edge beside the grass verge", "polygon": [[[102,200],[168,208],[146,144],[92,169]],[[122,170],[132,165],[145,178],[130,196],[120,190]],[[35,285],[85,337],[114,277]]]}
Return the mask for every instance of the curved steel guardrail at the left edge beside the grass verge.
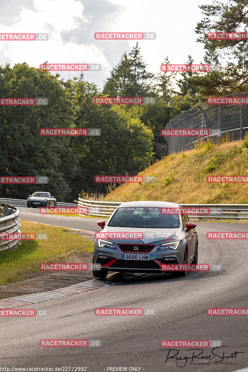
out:
{"label": "curved steel guardrail at the left edge beside the grass verge", "polygon": [[[6,205],[5,203],[0,203],[0,207],[7,207],[7,211],[13,209],[15,212],[0,218],[0,232],[9,232],[10,234],[15,232],[21,232],[20,228],[20,209],[15,208],[13,205]],[[10,248],[15,247],[19,243],[19,240],[0,240],[0,252],[9,250]]]}

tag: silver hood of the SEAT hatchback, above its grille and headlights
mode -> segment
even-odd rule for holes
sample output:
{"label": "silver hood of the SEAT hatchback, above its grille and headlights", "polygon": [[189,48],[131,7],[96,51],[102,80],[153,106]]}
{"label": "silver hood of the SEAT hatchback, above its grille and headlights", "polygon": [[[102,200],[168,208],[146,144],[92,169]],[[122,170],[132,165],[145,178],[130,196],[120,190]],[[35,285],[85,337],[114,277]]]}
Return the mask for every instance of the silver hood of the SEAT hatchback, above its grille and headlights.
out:
{"label": "silver hood of the SEAT hatchback, above its grille and headlights", "polygon": [[[119,233],[137,233],[141,232],[144,234],[144,237],[141,239],[134,239],[134,238],[128,238],[128,239],[123,239],[123,238],[109,238],[109,237],[101,237],[102,239],[112,241],[113,243],[118,243],[118,244],[155,244],[155,243],[160,243],[161,241],[174,241],[174,240],[181,240],[179,237],[181,230],[179,228],[173,229],[173,228],[164,228],[164,229],[149,229],[149,228],[129,228],[129,227],[110,227],[106,226],[102,231],[99,232],[101,233],[106,233],[106,232],[119,232]],[[149,235],[150,234],[150,235]],[[153,235],[152,235],[153,234]]]}

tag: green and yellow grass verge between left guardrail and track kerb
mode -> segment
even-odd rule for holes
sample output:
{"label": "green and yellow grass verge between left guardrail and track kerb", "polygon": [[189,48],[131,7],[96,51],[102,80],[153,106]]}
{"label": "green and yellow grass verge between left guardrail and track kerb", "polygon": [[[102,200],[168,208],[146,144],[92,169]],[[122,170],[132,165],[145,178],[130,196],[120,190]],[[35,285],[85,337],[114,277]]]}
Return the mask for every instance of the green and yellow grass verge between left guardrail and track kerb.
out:
{"label": "green and yellow grass verge between left guardrail and track kerb", "polygon": [[54,227],[21,220],[23,233],[47,233],[48,240],[22,241],[15,250],[0,252],[0,284],[16,282],[23,275],[39,272],[39,264],[65,262],[74,253],[93,252],[94,243],[65,227]]}

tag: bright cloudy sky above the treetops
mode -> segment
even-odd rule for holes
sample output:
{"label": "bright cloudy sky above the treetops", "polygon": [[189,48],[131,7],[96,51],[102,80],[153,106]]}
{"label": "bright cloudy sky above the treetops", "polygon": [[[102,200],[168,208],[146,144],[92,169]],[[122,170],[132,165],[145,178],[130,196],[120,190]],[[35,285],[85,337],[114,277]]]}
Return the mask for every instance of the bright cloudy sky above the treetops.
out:
{"label": "bright cloudy sky above the treetops", "polygon": [[[86,71],[85,80],[102,89],[109,71],[136,41],[95,40],[95,32],[155,32],[141,40],[141,53],[152,73],[168,55],[172,64],[191,54],[203,62],[202,44],[194,28],[202,18],[198,5],[212,0],[0,0],[1,33],[48,33],[48,41],[0,41],[0,65],[27,62],[100,63],[101,71]],[[79,74],[59,71],[67,80]]]}

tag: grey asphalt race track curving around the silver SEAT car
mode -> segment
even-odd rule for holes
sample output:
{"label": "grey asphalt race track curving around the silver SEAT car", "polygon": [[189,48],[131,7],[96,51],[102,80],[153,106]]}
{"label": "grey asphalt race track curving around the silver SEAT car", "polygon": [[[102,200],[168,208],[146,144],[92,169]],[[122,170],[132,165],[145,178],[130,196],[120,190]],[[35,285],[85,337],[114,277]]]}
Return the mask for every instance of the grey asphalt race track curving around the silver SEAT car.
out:
{"label": "grey asphalt race track curving around the silver SEAT car", "polygon": [[[99,231],[95,219],[42,216],[38,209],[20,209],[21,218],[29,221]],[[222,264],[222,271],[188,272],[186,278],[149,274],[97,291],[28,305],[25,308],[36,312],[48,310],[48,315],[0,318],[1,366],[74,366],[86,367],[84,370],[87,372],[125,371],[118,367],[127,368],[126,371],[170,372],[180,371],[185,364],[182,371],[228,372],[247,367],[248,317],[206,314],[207,308],[247,308],[247,240],[209,241],[206,238],[208,231],[245,232],[247,224],[200,222],[196,229],[199,235],[198,262]],[[142,316],[94,315],[95,308],[106,307],[155,309],[156,313]],[[101,340],[102,346],[40,347],[41,339],[94,339]],[[188,359],[171,358],[166,362],[169,350],[160,346],[161,340],[221,340],[223,347],[214,352],[222,356],[224,353],[224,359],[211,359],[214,357],[211,354],[213,348],[202,349],[204,359],[194,358],[193,363],[209,365],[190,365],[193,350],[174,347],[172,349],[179,350],[177,357],[188,356]],[[194,352],[195,356],[200,354],[199,350]],[[232,353],[236,352],[235,358]],[[171,351],[169,356],[175,353]],[[225,364],[213,365],[213,362]]]}

